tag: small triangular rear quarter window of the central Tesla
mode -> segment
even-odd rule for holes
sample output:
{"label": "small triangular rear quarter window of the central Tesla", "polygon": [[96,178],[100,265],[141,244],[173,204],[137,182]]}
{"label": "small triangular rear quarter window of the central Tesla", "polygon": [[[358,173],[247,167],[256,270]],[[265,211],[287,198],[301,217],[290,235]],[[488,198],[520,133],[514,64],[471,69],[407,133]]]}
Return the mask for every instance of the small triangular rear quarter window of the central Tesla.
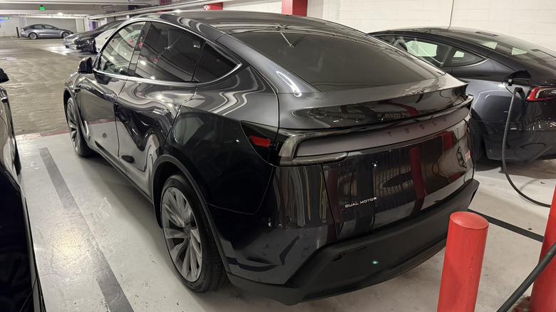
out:
{"label": "small triangular rear quarter window of the central Tesla", "polygon": [[205,44],[202,49],[199,64],[195,69],[195,81],[205,82],[220,78],[230,73],[235,63],[218,53],[215,48]]}

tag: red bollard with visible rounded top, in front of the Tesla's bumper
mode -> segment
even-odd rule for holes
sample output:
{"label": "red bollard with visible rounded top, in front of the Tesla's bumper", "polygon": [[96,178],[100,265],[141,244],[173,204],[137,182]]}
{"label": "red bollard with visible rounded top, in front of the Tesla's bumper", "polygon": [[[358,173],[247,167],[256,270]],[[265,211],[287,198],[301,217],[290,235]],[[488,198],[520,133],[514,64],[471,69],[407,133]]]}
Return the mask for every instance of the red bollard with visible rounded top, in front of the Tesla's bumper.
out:
{"label": "red bollard with visible rounded top, in front of the Tesla's bumper", "polygon": [[450,216],[438,312],[475,311],[488,221],[471,212]]}

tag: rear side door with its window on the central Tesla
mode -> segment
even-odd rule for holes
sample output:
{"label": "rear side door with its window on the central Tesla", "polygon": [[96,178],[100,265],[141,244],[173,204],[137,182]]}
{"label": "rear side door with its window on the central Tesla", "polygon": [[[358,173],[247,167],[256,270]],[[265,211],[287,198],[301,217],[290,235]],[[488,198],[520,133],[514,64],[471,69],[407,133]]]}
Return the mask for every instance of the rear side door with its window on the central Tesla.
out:
{"label": "rear side door with its window on the central Tesla", "polygon": [[204,41],[157,22],[148,23],[141,38],[115,107],[115,121],[120,162],[128,177],[150,194],[153,164],[177,110],[195,94],[192,77]]}

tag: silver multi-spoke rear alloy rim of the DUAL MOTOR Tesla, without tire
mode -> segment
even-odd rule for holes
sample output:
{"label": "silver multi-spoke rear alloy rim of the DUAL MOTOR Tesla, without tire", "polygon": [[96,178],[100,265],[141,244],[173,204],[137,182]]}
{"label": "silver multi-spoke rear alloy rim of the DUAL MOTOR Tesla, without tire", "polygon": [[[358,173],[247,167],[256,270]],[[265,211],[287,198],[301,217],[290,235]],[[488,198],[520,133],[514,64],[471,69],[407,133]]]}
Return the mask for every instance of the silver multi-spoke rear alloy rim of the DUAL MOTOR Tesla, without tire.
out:
{"label": "silver multi-spoke rear alloy rim of the DUAL MOTOR Tesla, without tire", "polygon": [[199,279],[202,244],[190,200],[177,187],[165,189],[162,199],[164,238],[172,261],[186,281]]}

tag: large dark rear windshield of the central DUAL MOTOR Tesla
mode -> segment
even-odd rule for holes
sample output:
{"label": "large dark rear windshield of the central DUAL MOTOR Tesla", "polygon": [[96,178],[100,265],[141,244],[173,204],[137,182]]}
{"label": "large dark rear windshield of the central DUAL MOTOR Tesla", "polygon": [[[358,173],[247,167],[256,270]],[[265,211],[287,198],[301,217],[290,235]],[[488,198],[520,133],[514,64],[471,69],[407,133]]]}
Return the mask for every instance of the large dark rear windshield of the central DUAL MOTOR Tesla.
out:
{"label": "large dark rear windshield of the central DUAL MOTOR Tesla", "polygon": [[294,31],[232,36],[324,92],[414,83],[443,75],[407,53],[364,36],[356,40]]}

